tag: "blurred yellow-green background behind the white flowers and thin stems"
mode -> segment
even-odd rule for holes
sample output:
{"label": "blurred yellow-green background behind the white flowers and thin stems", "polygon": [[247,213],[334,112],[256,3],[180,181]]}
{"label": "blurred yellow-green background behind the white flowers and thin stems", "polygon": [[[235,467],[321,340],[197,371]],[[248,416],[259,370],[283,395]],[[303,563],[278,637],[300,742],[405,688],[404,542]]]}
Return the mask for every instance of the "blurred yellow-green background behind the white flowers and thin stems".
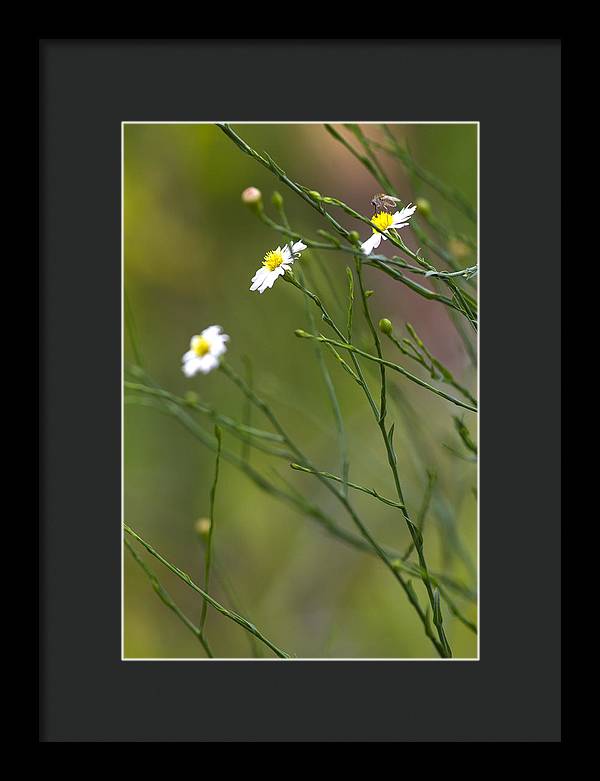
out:
{"label": "blurred yellow-green background behind the white flowers and thin stems", "polygon": [[[322,195],[371,216],[370,200],[381,186],[320,124],[233,125],[258,152],[268,154],[288,176]],[[343,126],[335,126],[357,146]],[[379,126],[361,125],[385,143]],[[466,199],[477,203],[477,127],[471,124],[392,125],[392,132],[414,159]],[[378,159],[405,202],[426,198],[447,235],[421,225],[431,238],[454,253],[460,266],[477,262],[456,236],[475,238],[475,226],[433,188],[410,175],[384,152]],[[204,124],[127,124],[124,129],[124,277],[125,292],[137,333],[136,357],[124,334],[126,376],[136,382],[137,360],[152,381],[177,396],[194,391],[200,401],[248,423],[247,402],[222,371],[187,379],[181,357],[190,337],[219,324],[230,335],[226,359],[243,376],[251,367],[256,393],[270,405],[283,426],[319,469],[340,474],[339,440],[332,408],[316,357],[315,342],[294,330],[311,330],[300,291],[282,279],[259,295],[250,280],[265,253],[284,237],[263,224],[241,201],[242,191],[258,187],[265,210],[281,193],[290,224],[309,239],[323,241],[325,219],[276,177],[241,150],[216,126]],[[364,240],[369,229],[335,207],[328,207]],[[418,217],[418,215],[417,215]],[[438,269],[443,261],[423,246],[410,228],[407,245]],[[390,242],[378,252],[393,254]],[[345,329],[346,266],[351,254],[306,251],[297,262],[309,287],[317,289]],[[388,317],[400,339],[411,323],[430,352],[472,393],[476,370],[444,305],[418,296],[381,271],[365,268],[369,304],[375,322]],[[423,277],[413,277],[431,287]],[[356,279],[356,273],[355,273]],[[460,282],[460,284],[464,284]],[[472,293],[474,288],[469,289]],[[444,291],[444,292],[447,292]],[[316,327],[331,336],[314,309]],[[462,318],[467,339],[476,340]],[[427,372],[382,337],[385,357],[419,377]],[[361,303],[354,307],[354,343],[373,352]],[[381,432],[361,389],[323,349],[347,430],[350,480],[397,499]],[[348,357],[347,354],[344,357]],[[374,397],[379,400],[379,369],[362,362]],[[477,585],[477,471],[457,435],[453,416],[462,418],[476,438],[475,415],[461,410],[392,371],[387,372],[387,427],[395,423],[398,472],[411,514],[416,518],[427,487],[427,470],[437,474],[424,522],[425,555],[432,571],[446,573],[475,591]],[[204,548],[195,531],[209,515],[215,455],[160,403],[139,403],[126,391],[124,430],[125,521],[160,554],[199,585],[204,579]],[[146,400],[147,401],[147,400]],[[190,414],[210,439],[213,423]],[[260,411],[249,423],[272,430]],[[223,431],[224,450],[245,457],[243,444]],[[256,449],[249,463],[284,491],[296,491],[348,531],[352,519],[316,477],[293,471],[289,461]],[[338,486],[339,487],[339,486]],[[378,542],[402,554],[410,537],[399,510],[350,490],[350,499]],[[299,658],[437,657],[414,609],[390,571],[376,556],[331,536],[314,518],[262,490],[234,464],[223,460],[216,493],[213,527],[214,562],[209,593],[251,620],[279,647]],[[186,615],[198,624],[201,597],[137,545],[136,550]],[[416,562],[413,552],[410,561]],[[422,583],[412,585],[425,609]],[[476,599],[452,594],[457,607],[477,621]],[[476,635],[442,602],[444,627],[458,658],[477,656]],[[209,609],[206,634],[215,656],[250,658],[272,652],[237,624]],[[124,655],[126,658],[204,658],[198,639],[152,589],[142,569],[124,551]]]}

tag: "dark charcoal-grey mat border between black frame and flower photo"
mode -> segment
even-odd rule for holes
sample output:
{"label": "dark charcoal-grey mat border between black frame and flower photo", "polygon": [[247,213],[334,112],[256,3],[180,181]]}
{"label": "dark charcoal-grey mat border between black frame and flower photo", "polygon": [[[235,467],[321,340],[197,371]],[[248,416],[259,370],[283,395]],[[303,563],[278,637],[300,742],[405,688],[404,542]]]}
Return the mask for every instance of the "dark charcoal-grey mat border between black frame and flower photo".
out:
{"label": "dark charcoal-grey mat border between black frame and flower photo", "polygon": [[[40,741],[560,741],[560,40],[40,39],[39,73]],[[121,122],[163,119],[480,122],[480,661],[121,661]]]}

